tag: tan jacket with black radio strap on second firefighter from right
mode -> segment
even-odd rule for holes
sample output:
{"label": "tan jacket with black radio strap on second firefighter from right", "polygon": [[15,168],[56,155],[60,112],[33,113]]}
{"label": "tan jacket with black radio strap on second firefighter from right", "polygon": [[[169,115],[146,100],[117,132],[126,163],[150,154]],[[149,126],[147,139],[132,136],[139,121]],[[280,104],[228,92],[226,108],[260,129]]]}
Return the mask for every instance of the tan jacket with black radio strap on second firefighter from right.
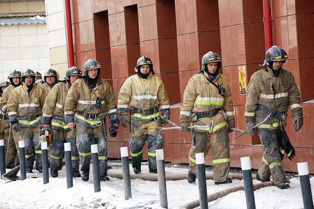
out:
{"label": "tan jacket with black radio strap on second firefighter from right", "polygon": [[[209,125],[213,120],[212,132],[226,128],[227,124],[235,123],[232,95],[227,78],[218,73],[209,81],[208,74],[202,70],[193,75],[187,83],[183,93],[183,104],[180,111],[180,122],[194,122],[194,125]],[[212,116],[212,111],[219,112]],[[226,115],[226,119],[223,115]],[[199,118],[198,113],[207,117]],[[195,129],[196,132],[208,132],[209,128]]]}

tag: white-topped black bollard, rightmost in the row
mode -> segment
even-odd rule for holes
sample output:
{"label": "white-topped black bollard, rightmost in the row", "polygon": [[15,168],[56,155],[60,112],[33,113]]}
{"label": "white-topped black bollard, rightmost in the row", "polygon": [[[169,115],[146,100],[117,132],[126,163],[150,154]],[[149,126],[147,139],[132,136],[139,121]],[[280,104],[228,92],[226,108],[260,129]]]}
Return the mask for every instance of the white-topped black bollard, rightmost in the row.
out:
{"label": "white-topped black bollard, rightmost in the row", "polygon": [[314,209],[308,163],[297,163],[304,209]]}

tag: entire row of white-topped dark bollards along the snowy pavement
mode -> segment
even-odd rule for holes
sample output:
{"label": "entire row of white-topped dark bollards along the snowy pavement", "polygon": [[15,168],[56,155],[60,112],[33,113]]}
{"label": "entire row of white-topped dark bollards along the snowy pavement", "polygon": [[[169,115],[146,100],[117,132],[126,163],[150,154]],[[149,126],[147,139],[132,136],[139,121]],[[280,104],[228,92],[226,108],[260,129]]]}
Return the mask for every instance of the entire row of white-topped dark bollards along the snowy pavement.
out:
{"label": "entire row of white-topped dark bollards along the snowy pavement", "polygon": [[[47,142],[42,142],[41,146],[42,146],[42,163],[43,163],[43,182],[44,184],[47,184],[49,183]],[[132,198],[128,147],[121,147],[120,150],[121,150],[125,200],[128,200]],[[24,145],[23,140],[19,141],[19,151],[20,151],[21,180],[25,180],[26,179],[26,160],[25,160],[25,145]],[[72,166],[71,166],[72,164],[71,144],[70,143],[64,143],[64,151],[65,151],[64,156],[65,156],[65,161],[66,161],[67,188],[70,188],[70,187],[73,187]],[[101,185],[100,185],[100,172],[99,172],[98,145],[97,144],[91,145],[91,153],[92,153],[91,155],[92,155],[92,162],[93,162],[94,192],[99,192],[101,191]],[[202,209],[208,209],[208,200],[207,200],[208,196],[207,196],[207,186],[206,186],[204,153],[196,153],[195,157],[196,157],[196,165],[197,165],[200,207]],[[156,160],[157,160],[157,175],[158,175],[160,206],[162,208],[168,208],[163,149],[156,150]],[[242,173],[243,173],[247,209],[255,209],[256,206],[255,206],[255,198],[254,198],[250,157],[243,157],[240,160],[241,160],[241,167],[242,167]],[[299,177],[300,177],[304,208],[314,209],[308,163],[297,163],[297,166],[298,166],[298,172],[299,172]],[[4,173],[5,173],[4,140],[1,139],[0,140],[0,174],[1,176]]]}

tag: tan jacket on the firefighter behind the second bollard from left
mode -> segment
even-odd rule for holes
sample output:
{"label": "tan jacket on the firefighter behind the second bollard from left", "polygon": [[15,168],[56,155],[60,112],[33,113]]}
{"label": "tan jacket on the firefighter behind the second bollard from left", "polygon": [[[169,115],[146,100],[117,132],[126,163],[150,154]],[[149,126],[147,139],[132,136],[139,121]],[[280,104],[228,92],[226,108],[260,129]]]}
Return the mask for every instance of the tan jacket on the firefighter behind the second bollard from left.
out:
{"label": "tan jacket on the firefighter behind the second bollard from left", "polygon": [[35,127],[41,122],[42,108],[44,107],[46,92],[33,84],[29,95],[27,85],[23,82],[15,88],[6,103],[10,122],[19,122],[21,127]]}

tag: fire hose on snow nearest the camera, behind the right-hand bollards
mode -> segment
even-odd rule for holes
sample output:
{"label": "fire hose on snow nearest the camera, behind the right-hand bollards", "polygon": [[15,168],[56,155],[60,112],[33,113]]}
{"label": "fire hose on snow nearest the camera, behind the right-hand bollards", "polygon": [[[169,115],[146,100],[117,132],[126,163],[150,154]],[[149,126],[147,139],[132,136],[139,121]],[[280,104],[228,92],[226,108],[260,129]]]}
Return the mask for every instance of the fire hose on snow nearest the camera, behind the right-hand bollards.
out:
{"label": "fire hose on snow nearest the camera, behind the right-hand bollards", "polygon": [[[255,184],[253,185],[253,189],[257,190],[260,189],[262,187],[266,187],[266,186],[274,186],[274,183],[271,182],[264,182],[264,183],[260,183],[260,184]],[[244,186],[235,186],[235,187],[231,187],[222,191],[218,191],[212,194],[209,194],[207,196],[207,201],[208,202],[212,202],[214,200],[217,200],[218,198],[224,197],[232,192],[236,192],[236,191],[240,191],[240,190],[244,190]],[[184,205],[182,205],[180,207],[180,209],[194,209],[200,206],[200,200],[194,200],[192,202],[186,203]]]}

